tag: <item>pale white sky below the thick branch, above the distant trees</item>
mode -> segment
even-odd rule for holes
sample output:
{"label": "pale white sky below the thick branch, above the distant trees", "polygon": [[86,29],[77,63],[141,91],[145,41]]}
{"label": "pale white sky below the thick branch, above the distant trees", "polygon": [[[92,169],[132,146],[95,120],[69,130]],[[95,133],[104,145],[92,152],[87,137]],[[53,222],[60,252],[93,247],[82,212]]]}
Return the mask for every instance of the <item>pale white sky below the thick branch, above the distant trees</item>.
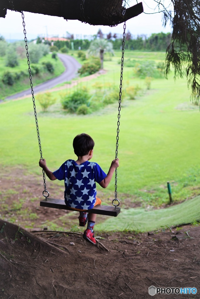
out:
{"label": "pale white sky below the thick branch, above the distant trees", "polygon": [[[136,1],[132,0],[136,4]],[[143,1],[142,1],[143,2]],[[148,6],[143,2],[144,12],[154,12],[155,2],[148,0]],[[94,35],[99,29],[106,34],[111,32],[123,34],[123,24],[119,24],[116,27],[109,26],[93,26],[82,23],[78,20],[64,20],[61,17],[47,16],[43,14],[34,14],[24,11],[25,16],[25,28],[26,36],[28,40],[36,39],[37,36],[59,36],[65,37],[66,32],[76,35]],[[159,32],[172,32],[170,24],[167,24],[166,28],[162,26],[162,13],[145,14],[142,13],[128,21],[126,21],[126,32],[130,31],[132,37],[145,34],[150,36],[151,33]],[[22,15],[19,12],[7,10],[7,15],[4,18],[0,18],[0,35],[5,39],[24,39]],[[79,36],[80,37],[80,36]]]}

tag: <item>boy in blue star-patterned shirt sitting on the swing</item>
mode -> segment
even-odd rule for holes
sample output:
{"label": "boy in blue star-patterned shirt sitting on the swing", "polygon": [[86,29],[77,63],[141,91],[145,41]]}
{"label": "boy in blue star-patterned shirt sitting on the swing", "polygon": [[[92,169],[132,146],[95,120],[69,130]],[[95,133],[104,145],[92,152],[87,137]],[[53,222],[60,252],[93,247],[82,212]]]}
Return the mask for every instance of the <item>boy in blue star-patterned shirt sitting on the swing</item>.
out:
{"label": "boy in blue star-patterned shirt sitting on the swing", "polygon": [[78,159],[65,161],[58,170],[52,172],[46,166],[46,160],[40,159],[39,165],[42,167],[50,180],[65,180],[65,203],[72,210],[79,211],[79,225],[85,226],[83,238],[96,244],[93,228],[96,214],[87,213],[95,205],[101,204],[101,199],[96,197],[96,183],[102,188],[106,188],[111,181],[115,168],[119,166],[119,159],[113,160],[106,175],[101,167],[95,162],[89,162],[93,157],[94,141],[82,133],[73,140],[73,148]]}

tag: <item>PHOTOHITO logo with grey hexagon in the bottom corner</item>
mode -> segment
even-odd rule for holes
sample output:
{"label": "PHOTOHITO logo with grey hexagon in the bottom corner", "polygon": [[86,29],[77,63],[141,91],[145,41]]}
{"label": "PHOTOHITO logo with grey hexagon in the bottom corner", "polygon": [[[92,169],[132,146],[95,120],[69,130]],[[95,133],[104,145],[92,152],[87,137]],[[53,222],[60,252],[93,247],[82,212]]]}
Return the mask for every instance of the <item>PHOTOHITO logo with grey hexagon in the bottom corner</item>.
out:
{"label": "PHOTOHITO logo with grey hexagon in the bottom corner", "polygon": [[196,288],[156,288],[155,286],[149,287],[149,295],[156,294],[196,294]]}

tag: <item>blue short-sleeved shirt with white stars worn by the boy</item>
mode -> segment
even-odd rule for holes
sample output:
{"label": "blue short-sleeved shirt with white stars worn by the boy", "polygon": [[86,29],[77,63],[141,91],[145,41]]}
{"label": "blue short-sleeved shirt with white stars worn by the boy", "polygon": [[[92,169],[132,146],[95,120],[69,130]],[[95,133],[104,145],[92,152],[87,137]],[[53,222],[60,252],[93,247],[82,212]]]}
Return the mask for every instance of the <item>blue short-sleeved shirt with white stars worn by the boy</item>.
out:
{"label": "blue short-sleeved shirt with white stars worn by the boy", "polygon": [[65,203],[70,208],[89,210],[96,202],[96,183],[107,174],[94,162],[78,165],[74,160],[65,161],[53,172],[58,180],[65,180]]}

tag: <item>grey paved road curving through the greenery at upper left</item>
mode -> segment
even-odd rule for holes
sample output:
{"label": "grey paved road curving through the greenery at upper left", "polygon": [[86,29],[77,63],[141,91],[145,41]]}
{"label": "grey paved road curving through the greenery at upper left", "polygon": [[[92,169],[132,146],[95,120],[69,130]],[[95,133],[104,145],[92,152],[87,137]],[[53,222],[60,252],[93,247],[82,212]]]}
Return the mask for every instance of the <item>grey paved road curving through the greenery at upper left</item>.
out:
{"label": "grey paved road curving through the greenery at upper left", "polygon": [[[44,83],[41,83],[37,86],[33,86],[34,94],[41,92],[41,91],[45,91],[47,89],[51,89],[52,87],[54,87],[60,83],[64,83],[64,82],[69,81],[69,80],[73,79],[74,77],[76,77],[77,71],[81,67],[80,63],[78,63],[78,61],[75,60],[75,58],[73,58],[69,55],[60,54],[60,53],[58,53],[57,55],[60,58],[60,60],[63,62],[65,71],[60,76],[58,76],[56,78],[50,79],[50,80],[48,80]],[[6,97],[5,100],[17,99],[18,97],[24,97],[24,96],[28,96],[28,95],[31,95],[31,87],[27,90],[24,90],[24,91],[18,92],[16,94],[13,94],[9,97]]]}

